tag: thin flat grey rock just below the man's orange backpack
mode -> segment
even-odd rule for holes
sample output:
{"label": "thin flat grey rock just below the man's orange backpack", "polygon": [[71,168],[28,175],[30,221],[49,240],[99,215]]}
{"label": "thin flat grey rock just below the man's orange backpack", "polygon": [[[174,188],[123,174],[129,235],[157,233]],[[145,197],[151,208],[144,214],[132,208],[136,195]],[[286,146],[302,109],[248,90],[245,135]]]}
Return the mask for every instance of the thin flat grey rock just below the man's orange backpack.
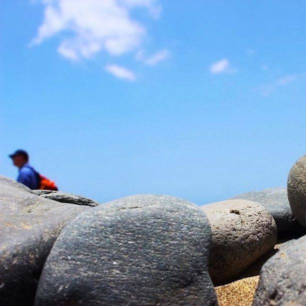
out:
{"label": "thin flat grey rock just below the man's orange backpack", "polygon": [[70,204],[87,205],[87,206],[96,206],[99,204],[98,202],[88,197],[68,192],[39,190],[39,189],[33,190],[32,192],[41,197],[49,198],[60,203],[70,203]]}

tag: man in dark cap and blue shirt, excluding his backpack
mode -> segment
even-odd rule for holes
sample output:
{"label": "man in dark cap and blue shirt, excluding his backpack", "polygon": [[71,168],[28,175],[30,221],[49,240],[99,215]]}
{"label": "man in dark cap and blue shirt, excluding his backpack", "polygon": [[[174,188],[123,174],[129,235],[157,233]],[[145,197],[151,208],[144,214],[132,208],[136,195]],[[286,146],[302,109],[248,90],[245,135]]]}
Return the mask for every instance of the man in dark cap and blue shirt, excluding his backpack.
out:
{"label": "man in dark cap and blue shirt, excluding his backpack", "polygon": [[13,164],[19,168],[17,181],[30,189],[37,189],[37,175],[34,169],[28,164],[27,152],[24,150],[16,150],[8,156],[12,159]]}

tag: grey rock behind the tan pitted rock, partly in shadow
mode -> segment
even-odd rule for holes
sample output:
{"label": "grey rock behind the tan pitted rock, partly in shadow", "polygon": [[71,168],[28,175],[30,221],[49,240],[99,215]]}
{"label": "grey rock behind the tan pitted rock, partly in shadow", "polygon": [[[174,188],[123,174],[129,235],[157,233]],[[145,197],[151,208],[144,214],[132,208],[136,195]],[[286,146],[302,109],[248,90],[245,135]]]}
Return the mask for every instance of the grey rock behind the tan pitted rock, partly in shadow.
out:
{"label": "grey rock behind the tan pitted rock, partly in shadow", "polygon": [[264,206],[274,218],[279,233],[304,230],[292,213],[285,187],[250,191],[231,197],[231,199],[238,198],[254,201]]}

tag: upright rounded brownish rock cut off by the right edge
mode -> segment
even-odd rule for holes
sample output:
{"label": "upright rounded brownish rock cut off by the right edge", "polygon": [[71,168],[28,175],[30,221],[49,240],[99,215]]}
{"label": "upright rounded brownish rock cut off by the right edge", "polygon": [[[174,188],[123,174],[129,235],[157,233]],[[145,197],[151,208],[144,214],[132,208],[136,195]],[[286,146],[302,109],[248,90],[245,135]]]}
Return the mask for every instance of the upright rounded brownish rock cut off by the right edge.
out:
{"label": "upright rounded brownish rock cut off by the right edge", "polygon": [[287,180],[287,192],[296,220],[306,227],[306,155],[292,165]]}

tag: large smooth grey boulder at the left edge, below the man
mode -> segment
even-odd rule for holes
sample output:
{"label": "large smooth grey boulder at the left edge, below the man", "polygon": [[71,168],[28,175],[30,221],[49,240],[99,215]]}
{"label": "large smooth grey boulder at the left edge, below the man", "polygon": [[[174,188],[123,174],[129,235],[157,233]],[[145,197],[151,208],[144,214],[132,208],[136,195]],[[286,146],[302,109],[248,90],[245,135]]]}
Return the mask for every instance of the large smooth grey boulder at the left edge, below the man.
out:
{"label": "large smooth grey boulder at the left edge, below the man", "polygon": [[38,278],[63,225],[86,206],[39,197],[0,176],[0,304],[32,305]]}

